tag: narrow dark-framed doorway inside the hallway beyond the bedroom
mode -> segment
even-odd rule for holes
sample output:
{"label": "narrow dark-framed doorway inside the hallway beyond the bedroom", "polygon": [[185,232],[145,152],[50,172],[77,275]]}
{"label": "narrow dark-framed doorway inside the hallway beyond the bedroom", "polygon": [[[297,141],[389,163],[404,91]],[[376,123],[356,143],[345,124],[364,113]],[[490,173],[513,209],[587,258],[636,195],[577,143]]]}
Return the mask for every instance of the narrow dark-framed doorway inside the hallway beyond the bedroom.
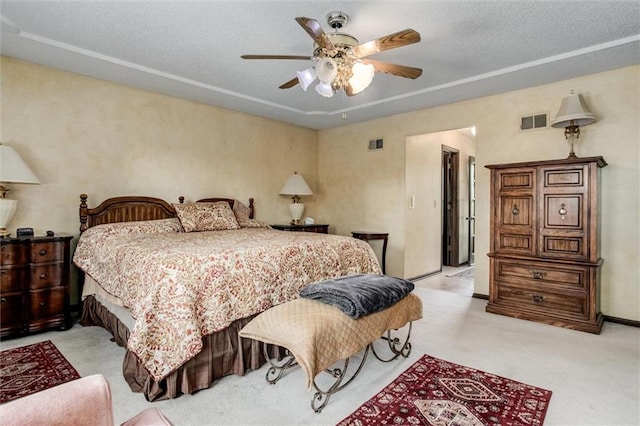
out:
{"label": "narrow dark-framed doorway inside the hallway beyond the bedroom", "polygon": [[442,145],[442,266],[459,265],[458,168],[460,151]]}

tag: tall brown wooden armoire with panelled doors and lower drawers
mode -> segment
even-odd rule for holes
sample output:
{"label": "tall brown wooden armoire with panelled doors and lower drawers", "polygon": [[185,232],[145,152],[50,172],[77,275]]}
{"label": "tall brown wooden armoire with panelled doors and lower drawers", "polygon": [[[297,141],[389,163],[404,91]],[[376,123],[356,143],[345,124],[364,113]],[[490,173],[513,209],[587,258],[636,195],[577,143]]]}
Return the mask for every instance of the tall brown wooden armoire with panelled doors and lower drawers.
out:
{"label": "tall brown wooden armoire with panelled doors and lower drawers", "polygon": [[602,157],[491,170],[487,312],[600,333]]}

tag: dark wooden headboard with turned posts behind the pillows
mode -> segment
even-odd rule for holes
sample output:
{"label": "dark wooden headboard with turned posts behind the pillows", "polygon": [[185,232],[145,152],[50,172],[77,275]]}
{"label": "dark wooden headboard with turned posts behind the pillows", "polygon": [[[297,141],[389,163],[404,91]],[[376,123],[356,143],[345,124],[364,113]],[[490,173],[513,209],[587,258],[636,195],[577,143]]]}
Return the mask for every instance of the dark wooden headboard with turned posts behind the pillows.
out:
{"label": "dark wooden headboard with turned posts behind the pillows", "polygon": [[[141,220],[169,219],[176,217],[176,210],[166,201],[155,197],[125,196],[104,200],[100,205],[90,209],[87,205],[87,194],[80,194],[80,233],[88,228],[104,223],[137,222]],[[184,197],[178,201],[184,203]],[[233,208],[232,198],[203,198],[197,202],[226,201]],[[249,218],[253,219],[255,209],[253,198],[249,198]]]}

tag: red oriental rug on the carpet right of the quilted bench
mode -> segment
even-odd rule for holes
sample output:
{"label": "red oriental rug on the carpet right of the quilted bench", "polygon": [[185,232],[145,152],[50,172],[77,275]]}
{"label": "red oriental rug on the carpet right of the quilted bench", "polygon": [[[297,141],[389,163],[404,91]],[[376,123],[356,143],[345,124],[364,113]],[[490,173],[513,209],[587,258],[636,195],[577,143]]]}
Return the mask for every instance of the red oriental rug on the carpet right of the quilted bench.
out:
{"label": "red oriental rug on the carpet right of the quilted bench", "polygon": [[424,355],[340,426],[542,425],[551,391]]}

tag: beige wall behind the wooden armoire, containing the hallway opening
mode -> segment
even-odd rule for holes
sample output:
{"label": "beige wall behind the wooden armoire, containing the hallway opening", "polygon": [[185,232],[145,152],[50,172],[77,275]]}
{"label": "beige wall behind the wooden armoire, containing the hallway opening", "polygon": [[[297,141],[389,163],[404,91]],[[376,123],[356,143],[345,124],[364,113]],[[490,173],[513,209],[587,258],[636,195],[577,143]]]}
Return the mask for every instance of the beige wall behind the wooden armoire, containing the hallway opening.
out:
{"label": "beige wall behind the wooden armoire, containing the hallway opening", "polygon": [[[319,214],[338,233],[354,228],[390,233],[387,272],[404,269],[405,142],[407,137],[475,125],[476,288],[488,293],[489,172],[487,164],[565,158],[562,129],[519,131],[519,117],[547,111],[553,118],[571,89],[582,93],[598,122],[582,128],[578,156],[602,155],[602,302],[605,315],[640,320],[640,66],[497,96],[396,115],[319,132]],[[381,151],[367,141],[384,137]],[[407,232],[420,230],[407,229]]]}

